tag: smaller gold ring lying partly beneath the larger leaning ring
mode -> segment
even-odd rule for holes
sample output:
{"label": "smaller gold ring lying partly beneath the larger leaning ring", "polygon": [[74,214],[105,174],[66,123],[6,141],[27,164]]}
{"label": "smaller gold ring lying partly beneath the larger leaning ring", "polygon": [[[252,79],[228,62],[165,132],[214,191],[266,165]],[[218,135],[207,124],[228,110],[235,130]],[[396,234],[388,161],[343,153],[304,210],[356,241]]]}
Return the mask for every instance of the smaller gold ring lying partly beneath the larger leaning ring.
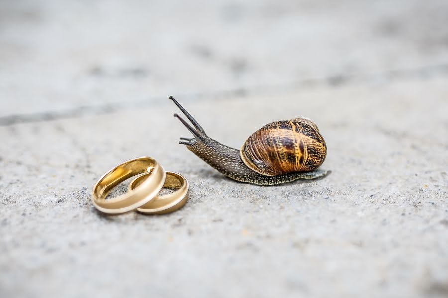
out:
{"label": "smaller gold ring lying partly beneath the larger leaning ring", "polygon": [[[129,184],[129,191],[145,183],[148,178],[149,174],[136,177]],[[137,208],[137,211],[146,214],[165,214],[176,211],[187,203],[190,185],[184,176],[176,172],[166,171],[166,180],[163,187],[178,189],[167,195],[155,197],[154,200]]]}

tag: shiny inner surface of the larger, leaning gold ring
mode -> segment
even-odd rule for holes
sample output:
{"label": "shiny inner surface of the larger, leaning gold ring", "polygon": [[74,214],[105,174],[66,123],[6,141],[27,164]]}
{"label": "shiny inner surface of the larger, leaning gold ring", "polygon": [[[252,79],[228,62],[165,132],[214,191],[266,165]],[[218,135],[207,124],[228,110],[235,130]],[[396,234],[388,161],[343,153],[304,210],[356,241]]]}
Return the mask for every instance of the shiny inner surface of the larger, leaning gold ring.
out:
{"label": "shiny inner surface of the larger, leaning gold ring", "polygon": [[105,199],[109,192],[123,181],[126,181],[130,177],[138,174],[147,173],[147,169],[153,166],[152,159],[136,159],[129,161],[125,164],[121,164],[113,169],[103,180],[98,183],[95,188],[95,195],[98,199]]}

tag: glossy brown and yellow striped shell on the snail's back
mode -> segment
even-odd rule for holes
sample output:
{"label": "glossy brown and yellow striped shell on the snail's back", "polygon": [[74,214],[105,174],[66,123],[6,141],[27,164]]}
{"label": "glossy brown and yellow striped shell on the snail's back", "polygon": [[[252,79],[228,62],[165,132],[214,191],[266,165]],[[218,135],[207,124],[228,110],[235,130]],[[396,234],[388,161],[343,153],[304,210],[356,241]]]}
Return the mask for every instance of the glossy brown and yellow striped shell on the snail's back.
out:
{"label": "glossy brown and yellow striped shell on the snail's back", "polygon": [[246,140],[239,155],[255,172],[276,176],[314,170],[324,162],[327,146],[314,122],[296,118],[266,124]]}

